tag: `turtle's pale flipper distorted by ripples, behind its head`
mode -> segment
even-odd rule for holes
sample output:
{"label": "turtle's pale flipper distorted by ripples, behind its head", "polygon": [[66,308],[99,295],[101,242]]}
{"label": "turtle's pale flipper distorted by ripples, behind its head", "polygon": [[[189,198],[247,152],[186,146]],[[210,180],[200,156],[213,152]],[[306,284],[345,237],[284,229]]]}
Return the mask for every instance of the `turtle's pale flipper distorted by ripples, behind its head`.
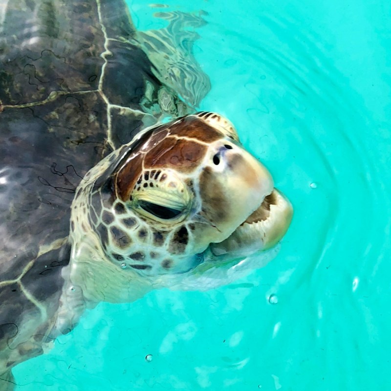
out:
{"label": "turtle's pale flipper distorted by ripples, behind its head", "polygon": [[193,44],[199,35],[190,29],[201,27],[206,22],[199,16],[180,11],[159,12],[154,16],[167,20],[169,25],[138,33],[142,48],[155,66],[152,71],[187,104],[197,107],[211,84],[195,60]]}

